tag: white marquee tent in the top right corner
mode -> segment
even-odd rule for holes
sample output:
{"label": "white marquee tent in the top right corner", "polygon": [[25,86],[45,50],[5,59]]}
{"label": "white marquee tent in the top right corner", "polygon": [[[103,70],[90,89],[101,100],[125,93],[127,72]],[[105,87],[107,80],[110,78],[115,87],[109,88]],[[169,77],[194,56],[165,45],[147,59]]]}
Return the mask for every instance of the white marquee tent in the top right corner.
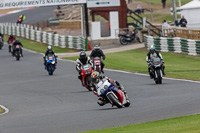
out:
{"label": "white marquee tent in the top right corner", "polygon": [[181,16],[188,21],[188,28],[200,28],[200,0],[193,0],[180,7]]}

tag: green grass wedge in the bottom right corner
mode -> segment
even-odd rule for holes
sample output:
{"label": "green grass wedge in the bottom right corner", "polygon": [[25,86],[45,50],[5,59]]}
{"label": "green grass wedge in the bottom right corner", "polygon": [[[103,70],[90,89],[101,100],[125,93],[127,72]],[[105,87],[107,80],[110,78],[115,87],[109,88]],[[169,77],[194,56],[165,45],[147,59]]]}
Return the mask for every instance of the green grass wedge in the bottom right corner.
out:
{"label": "green grass wedge in the bottom right corner", "polygon": [[199,133],[200,114],[84,133]]}

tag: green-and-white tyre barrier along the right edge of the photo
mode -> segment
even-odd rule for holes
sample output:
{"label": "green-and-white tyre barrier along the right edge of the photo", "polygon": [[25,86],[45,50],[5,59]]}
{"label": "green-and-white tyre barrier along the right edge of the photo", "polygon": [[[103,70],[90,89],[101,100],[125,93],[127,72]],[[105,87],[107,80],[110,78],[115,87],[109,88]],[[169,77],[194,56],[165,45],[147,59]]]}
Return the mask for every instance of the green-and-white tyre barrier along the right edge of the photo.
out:
{"label": "green-and-white tyre barrier along the right edge of the photo", "polygon": [[179,37],[153,37],[144,35],[144,44],[146,48],[149,48],[150,45],[155,45],[156,50],[162,52],[200,55],[200,40],[191,40]]}

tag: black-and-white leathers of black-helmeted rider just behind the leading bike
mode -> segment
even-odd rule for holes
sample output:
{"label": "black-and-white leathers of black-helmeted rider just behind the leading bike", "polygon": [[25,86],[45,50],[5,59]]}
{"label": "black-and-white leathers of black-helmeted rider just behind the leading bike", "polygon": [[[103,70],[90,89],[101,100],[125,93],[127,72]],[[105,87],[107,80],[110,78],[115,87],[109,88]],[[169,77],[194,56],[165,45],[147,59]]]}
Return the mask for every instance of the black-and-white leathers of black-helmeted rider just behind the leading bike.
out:
{"label": "black-and-white leathers of black-helmeted rider just behind the leading bike", "polygon": [[90,59],[90,57],[85,57],[85,58],[78,58],[76,60],[76,70],[79,73],[78,79],[80,79],[82,81],[82,76],[81,76],[81,66],[85,65],[85,64],[90,64],[91,66],[93,66],[92,64],[92,60]]}

